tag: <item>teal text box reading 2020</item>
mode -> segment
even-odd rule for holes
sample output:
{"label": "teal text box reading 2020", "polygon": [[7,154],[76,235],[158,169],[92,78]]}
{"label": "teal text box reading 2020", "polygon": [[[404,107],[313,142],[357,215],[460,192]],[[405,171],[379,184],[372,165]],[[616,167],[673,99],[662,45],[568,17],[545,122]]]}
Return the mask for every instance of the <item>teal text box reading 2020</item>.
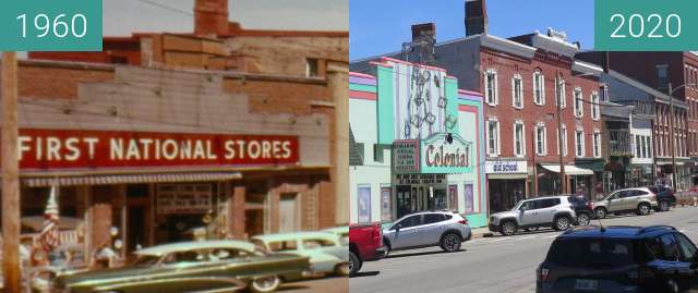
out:
{"label": "teal text box reading 2020", "polygon": [[594,5],[595,50],[698,50],[696,0],[595,0]]}

